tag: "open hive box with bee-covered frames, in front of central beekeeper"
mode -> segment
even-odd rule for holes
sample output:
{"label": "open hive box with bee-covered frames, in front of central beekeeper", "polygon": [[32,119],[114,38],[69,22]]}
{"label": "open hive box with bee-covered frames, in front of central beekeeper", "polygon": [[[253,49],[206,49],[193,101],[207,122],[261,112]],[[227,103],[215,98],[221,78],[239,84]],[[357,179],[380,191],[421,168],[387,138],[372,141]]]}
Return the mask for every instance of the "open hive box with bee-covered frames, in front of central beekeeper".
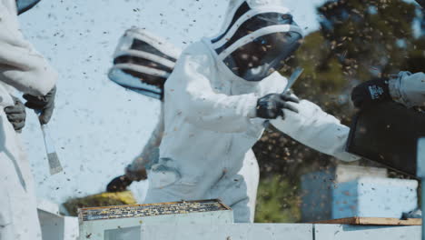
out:
{"label": "open hive box with bee-covered frames, in front of central beekeeper", "polygon": [[78,220],[80,240],[118,240],[140,239],[141,225],[231,224],[233,214],[219,200],[203,200],[81,208]]}

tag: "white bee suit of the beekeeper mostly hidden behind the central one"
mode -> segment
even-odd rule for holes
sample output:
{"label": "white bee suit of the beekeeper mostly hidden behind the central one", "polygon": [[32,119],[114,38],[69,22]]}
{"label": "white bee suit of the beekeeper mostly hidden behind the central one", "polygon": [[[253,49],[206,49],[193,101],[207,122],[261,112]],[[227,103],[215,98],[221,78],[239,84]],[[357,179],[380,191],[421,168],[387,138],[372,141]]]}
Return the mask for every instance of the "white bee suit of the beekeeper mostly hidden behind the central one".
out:
{"label": "white bee suit of the beekeeper mostly hidden behind the central one", "polygon": [[[145,29],[131,28],[125,31],[116,47],[114,66],[109,72],[109,78],[118,85],[136,93],[162,99],[163,83],[173,71],[175,61],[181,53],[180,49],[171,45],[162,37]],[[162,102],[159,121],[151,137],[144,145],[141,155],[134,158],[133,162],[127,165],[125,169],[125,175],[131,180],[140,180],[142,177],[140,173],[143,173],[145,168],[148,169],[149,173],[151,166],[158,163],[159,145],[163,138],[163,120]],[[246,174],[250,175],[249,204],[254,209],[260,170],[251,149],[246,154],[243,165],[247,168]]]}

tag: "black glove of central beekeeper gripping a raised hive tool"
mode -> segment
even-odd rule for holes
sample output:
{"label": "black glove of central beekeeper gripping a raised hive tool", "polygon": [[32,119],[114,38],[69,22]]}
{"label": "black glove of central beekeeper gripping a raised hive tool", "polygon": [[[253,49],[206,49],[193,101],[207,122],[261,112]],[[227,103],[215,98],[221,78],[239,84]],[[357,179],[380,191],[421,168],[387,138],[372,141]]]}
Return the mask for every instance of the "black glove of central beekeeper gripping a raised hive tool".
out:
{"label": "black glove of central beekeeper gripping a raised hive tool", "polygon": [[276,119],[278,116],[284,118],[283,109],[298,113],[298,109],[287,102],[299,103],[300,101],[289,93],[265,95],[258,99],[257,116],[265,119]]}

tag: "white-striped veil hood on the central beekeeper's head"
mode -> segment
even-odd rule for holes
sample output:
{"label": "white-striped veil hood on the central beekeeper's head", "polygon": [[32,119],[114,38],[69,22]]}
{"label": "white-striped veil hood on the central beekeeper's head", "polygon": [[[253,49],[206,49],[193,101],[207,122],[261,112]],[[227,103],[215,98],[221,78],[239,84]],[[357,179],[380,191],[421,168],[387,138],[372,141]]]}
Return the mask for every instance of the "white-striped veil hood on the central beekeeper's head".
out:
{"label": "white-striped veil hood on the central beekeeper's head", "polygon": [[219,61],[247,81],[280,70],[301,45],[301,28],[282,0],[230,2],[221,34],[211,42]]}

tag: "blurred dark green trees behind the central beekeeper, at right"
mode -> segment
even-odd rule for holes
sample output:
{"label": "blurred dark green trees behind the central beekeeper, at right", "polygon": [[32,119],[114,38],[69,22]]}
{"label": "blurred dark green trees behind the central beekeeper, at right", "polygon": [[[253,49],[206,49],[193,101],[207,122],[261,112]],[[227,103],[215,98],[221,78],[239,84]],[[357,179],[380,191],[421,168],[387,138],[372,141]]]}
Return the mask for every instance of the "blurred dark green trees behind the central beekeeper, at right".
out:
{"label": "blurred dark green trees behind the central beekeeper, at right", "polygon": [[[337,0],[317,8],[321,29],[306,35],[290,66],[304,73],[293,90],[350,125],[353,86],[399,71],[425,70],[425,20],[420,6],[402,0]],[[256,222],[301,220],[300,177],[338,160],[275,129],[253,147],[261,167]],[[377,165],[361,160],[356,165]],[[399,175],[400,177],[404,177]]]}

